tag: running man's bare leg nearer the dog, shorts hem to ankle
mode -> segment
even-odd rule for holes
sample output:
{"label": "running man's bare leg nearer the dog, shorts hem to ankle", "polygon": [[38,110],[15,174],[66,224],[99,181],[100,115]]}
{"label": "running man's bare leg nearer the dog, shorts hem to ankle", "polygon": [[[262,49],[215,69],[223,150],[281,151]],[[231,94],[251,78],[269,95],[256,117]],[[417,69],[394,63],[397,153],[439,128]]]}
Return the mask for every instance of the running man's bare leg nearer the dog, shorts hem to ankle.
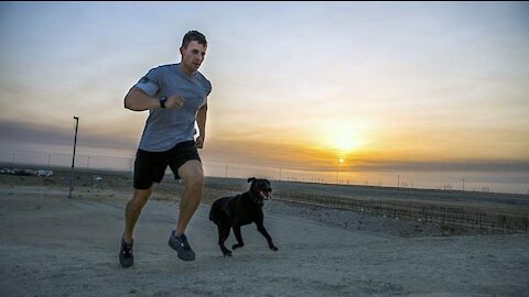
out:
{"label": "running man's bare leg nearer the dog, shorts hem to ankle", "polygon": [[185,229],[195,213],[202,199],[204,188],[204,170],[202,163],[197,160],[191,160],[180,166],[179,175],[185,180],[185,189],[180,201],[179,223],[176,224],[176,235],[185,233]]}

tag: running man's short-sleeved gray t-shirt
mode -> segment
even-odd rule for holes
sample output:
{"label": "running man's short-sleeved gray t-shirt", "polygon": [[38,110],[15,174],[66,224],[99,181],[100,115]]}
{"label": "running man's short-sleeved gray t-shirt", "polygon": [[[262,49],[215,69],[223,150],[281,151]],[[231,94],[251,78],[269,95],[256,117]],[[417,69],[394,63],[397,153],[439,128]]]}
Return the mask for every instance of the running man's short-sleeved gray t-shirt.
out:
{"label": "running man's short-sleeved gray t-shirt", "polygon": [[140,141],[140,148],[163,152],[174,145],[192,141],[196,134],[196,113],[206,103],[212,84],[201,73],[185,75],[179,64],[152,68],[134,85],[151,97],[168,98],[174,95],[184,98],[181,109],[151,109]]}

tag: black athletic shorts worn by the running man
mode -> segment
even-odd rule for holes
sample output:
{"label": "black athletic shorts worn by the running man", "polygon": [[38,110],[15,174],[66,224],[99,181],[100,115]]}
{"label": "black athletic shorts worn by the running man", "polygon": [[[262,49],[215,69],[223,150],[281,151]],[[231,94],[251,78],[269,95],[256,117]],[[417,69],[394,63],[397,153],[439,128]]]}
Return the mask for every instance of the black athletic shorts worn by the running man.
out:
{"label": "black athletic shorts worn by the running man", "polygon": [[201,161],[194,141],[179,143],[164,152],[138,148],[134,162],[134,189],[148,189],[152,184],[162,182],[168,166],[173,172],[174,179],[180,179],[179,168],[190,160]]}

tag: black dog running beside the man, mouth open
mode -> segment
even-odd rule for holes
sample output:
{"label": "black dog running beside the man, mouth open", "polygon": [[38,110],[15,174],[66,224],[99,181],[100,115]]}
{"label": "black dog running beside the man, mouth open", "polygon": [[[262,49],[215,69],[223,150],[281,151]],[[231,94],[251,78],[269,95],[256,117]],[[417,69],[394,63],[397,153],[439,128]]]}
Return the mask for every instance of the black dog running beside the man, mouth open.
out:
{"label": "black dog running beside the man, mouth open", "polygon": [[229,235],[229,229],[234,229],[237,243],[231,249],[242,248],[242,237],[240,235],[240,227],[255,222],[257,230],[267,239],[268,246],[272,251],[278,251],[272,243],[272,238],[264,229],[262,206],[266,199],[271,198],[272,188],[268,179],[248,178],[251,182],[250,189],[242,194],[229,197],[218,198],[213,202],[209,211],[209,220],[218,227],[218,245],[225,256],[231,256],[224,242]]}

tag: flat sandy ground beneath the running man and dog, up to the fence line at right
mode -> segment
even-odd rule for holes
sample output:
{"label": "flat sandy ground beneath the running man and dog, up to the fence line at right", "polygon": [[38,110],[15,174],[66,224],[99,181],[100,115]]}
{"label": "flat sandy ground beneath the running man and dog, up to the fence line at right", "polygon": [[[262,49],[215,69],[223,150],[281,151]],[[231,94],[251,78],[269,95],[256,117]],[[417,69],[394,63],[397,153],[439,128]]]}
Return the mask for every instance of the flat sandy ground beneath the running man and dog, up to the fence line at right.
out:
{"label": "flat sandy ground beneath the running man and dog, up to the fence line at right", "polygon": [[443,237],[421,222],[279,200],[264,206],[279,252],[247,226],[245,248],[223,257],[203,204],[187,230],[196,261],[183,262],[168,246],[177,200],[154,196],[136,230],[136,264],[123,270],[131,189],[67,194],[0,183],[0,296],[529,296],[528,234]]}

